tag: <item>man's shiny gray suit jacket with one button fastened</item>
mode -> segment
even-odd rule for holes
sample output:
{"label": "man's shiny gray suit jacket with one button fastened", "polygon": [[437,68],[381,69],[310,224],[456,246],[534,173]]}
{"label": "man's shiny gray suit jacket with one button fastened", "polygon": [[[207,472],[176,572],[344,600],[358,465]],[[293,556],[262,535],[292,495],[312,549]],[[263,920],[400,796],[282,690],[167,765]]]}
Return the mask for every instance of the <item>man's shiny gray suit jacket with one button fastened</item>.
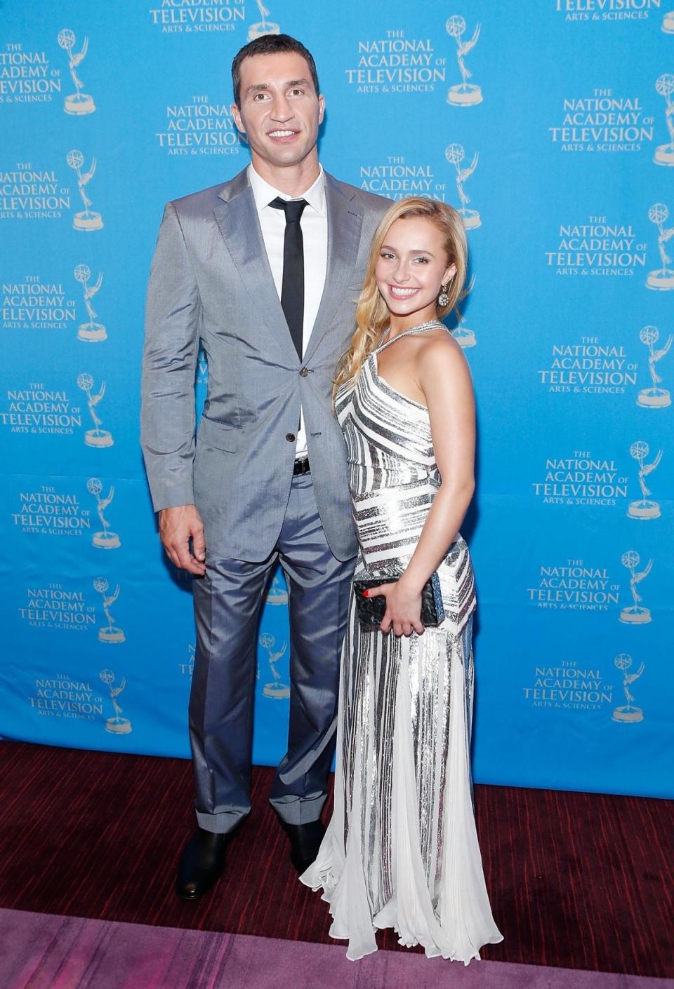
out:
{"label": "man's shiny gray suit jacket with one button fastened", "polygon": [[[316,501],[339,560],[356,552],[346,448],[332,408],[372,234],[390,201],[326,173],[328,270],[300,361],[246,171],[168,203],[147,289],[141,440],[154,510],[197,505],[209,553],[264,560],[285,512],[304,409]],[[194,375],[208,355],[195,437]],[[292,438],[290,438],[292,437]]]}

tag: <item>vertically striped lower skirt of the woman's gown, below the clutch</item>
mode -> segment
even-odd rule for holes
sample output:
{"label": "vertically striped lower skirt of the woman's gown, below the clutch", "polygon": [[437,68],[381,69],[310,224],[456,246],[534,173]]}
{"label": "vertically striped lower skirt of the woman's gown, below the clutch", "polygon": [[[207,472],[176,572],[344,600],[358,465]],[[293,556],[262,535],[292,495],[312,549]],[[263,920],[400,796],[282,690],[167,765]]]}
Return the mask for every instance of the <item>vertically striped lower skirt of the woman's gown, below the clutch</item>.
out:
{"label": "vertically striped lower skirt of the woman's gown, below the clutch", "polygon": [[466,965],[503,940],[472,805],[471,633],[472,615],[459,632],[448,621],[410,638],[363,631],[351,598],[335,811],[301,880],[323,890],[352,960],[377,949],[378,928]]}

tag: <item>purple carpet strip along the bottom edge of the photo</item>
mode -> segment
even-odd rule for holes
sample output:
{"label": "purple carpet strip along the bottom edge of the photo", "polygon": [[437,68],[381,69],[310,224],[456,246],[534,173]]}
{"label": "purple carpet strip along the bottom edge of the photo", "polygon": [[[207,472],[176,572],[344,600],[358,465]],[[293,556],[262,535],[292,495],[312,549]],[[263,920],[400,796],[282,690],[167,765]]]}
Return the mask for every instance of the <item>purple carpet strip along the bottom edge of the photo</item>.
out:
{"label": "purple carpet strip along the bottom edge of the photo", "polygon": [[0,908],[2,989],[665,989],[674,979],[417,953],[348,961],[339,944]]}

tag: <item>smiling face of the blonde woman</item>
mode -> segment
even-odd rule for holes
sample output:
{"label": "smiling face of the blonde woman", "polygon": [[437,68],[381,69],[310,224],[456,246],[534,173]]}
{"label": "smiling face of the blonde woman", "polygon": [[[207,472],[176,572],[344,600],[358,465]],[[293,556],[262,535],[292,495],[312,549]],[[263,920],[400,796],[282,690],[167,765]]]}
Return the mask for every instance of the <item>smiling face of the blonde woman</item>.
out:
{"label": "smiling face of the blonde woman", "polygon": [[[440,286],[456,272],[447,264],[443,236],[426,217],[396,220],[384,235],[374,277],[393,315],[435,315]],[[428,311],[428,315],[425,311]]]}

